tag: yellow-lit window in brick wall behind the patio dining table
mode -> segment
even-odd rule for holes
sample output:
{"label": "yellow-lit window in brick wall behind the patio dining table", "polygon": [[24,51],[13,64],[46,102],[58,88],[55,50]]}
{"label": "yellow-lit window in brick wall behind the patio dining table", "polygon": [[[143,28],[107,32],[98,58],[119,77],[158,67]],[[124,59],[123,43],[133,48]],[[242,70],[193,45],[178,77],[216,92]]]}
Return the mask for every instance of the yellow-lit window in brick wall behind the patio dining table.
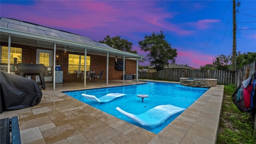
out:
{"label": "yellow-lit window in brick wall behind the patio dining table", "polygon": [[[91,57],[86,56],[86,70],[90,70]],[[84,56],[68,54],[68,72],[75,73],[75,70],[84,70]]]}

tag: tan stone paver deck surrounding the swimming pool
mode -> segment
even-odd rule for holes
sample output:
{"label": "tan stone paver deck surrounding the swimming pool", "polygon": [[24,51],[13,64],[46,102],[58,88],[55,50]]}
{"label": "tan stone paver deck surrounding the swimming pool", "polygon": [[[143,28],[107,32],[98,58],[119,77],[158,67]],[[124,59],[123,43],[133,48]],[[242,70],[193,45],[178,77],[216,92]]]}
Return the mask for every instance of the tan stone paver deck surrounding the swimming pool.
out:
{"label": "tan stone paver deck surrounding the swimming pool", "polygon": [[[125,85],[142,84],[126,80]],[[172,82],[174,83],[174,82]],[[122,80],[87,84],[47,83],[40,104],[3,112],[0,117],[19,117],[25,144],[211,144],[216,142],[224,86],[205,92],[158,134],[120,120],[62,91],[122,86]]]}

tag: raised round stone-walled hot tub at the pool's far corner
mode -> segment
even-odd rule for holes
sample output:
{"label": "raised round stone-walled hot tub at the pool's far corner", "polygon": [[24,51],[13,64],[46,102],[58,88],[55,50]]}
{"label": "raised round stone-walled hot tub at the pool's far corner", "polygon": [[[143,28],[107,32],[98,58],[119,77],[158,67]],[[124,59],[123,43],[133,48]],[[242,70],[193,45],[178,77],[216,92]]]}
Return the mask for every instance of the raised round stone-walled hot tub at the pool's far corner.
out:
{"label": "raised round stone-walled hot tub at the pool's far corner", "polygon": [[217,80],[210,78],[180,78],[180,85],[210,88],[217,86]]}

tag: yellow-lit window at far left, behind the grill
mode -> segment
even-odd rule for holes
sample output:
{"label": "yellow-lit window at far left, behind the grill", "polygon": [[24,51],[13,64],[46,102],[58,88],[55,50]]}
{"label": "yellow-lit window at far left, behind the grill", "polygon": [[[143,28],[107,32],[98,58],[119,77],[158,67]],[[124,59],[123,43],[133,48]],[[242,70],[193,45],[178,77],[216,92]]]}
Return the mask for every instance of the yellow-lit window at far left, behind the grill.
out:
{"label": "yellow-lit window at far left, behind the grill", "polygon": [[[17,64],[22,62],[22,48],[11,47],[10,64],[14,64],[14,59],[18,58]],[[8,47],[2,46],[1,48],[1,64],[8,64]]]}

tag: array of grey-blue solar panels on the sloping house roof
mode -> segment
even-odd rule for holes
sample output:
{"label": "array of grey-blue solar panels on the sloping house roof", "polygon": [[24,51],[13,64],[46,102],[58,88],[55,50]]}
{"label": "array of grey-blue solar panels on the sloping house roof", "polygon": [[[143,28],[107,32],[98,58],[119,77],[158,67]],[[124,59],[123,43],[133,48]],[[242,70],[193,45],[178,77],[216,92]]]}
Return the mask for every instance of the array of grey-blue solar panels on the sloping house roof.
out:
{"label": "array of grey-blue solar panels on the sloping house roof", "polygon": [[49,28],[46,26],[40,26],[38,24],[33,24],[31,22],[25,22],[21,20],[16,20],[13,18],[2,18],[0,17],[0,26],[6,27],[6,28],[12,28],[16,30],[22,30],[30,33],[35,34],[43,34],[45,36],[53,36],[56,38],[62,38],[64,40],[72,40],[75,42],[95,45],[95,46],[102,46],[104,48],[108,49],[114,49],[106,44],[102,44],[100,42],[96,42],[94,40],[91,40],[90,38],[80,36],[78,34],[73,34],[71,32],[66,32],[63,30],[57,30],[54,28]]}

